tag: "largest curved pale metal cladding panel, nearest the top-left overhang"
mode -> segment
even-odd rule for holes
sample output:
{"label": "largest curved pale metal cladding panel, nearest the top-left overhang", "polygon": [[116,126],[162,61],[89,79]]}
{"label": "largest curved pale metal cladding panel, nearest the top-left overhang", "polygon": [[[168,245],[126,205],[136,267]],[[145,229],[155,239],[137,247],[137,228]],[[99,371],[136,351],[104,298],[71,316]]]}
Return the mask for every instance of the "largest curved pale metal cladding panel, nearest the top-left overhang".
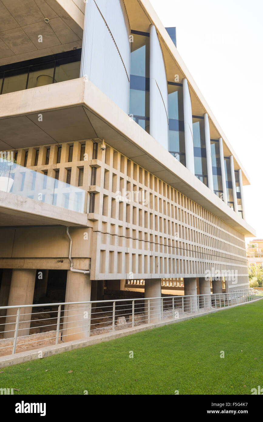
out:
{"label": "largest curved pale metal cladding panel, nearest the top-left overhang", "polygon": [[81,78],[86,76],[129,113],[130,26],[123,0],[88,0]]}

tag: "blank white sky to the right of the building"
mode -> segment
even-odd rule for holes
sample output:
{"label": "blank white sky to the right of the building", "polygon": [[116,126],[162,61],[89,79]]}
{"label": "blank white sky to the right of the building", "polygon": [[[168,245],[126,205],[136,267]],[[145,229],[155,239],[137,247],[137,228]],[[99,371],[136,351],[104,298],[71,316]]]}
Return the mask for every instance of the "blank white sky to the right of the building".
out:
{"label": "blank white sky to the right of the building", "polygon": [[150,2],[176,27],[177,49],[250,177],[246,219],[263,238],[263,1]]}

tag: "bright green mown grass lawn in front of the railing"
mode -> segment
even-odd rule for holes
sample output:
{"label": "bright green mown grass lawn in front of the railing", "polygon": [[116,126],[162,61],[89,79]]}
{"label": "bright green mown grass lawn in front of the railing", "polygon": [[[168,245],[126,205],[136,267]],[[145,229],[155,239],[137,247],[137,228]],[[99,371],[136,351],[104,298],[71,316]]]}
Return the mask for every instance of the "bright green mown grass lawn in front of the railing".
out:
{"label": "bright green mown grass lawn in front of the railing", "polygon": [[260,300],[0,369],[0,388],[19,389],[14,394],[250,395],[263,387],[262,325]]}

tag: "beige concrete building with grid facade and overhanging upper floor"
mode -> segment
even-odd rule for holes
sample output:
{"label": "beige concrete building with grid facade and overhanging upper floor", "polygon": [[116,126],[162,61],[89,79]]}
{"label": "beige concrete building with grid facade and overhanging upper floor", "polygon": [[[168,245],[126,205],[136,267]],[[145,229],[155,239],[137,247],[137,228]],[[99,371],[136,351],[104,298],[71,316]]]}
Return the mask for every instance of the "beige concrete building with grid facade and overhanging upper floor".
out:
{"label": "beige concrete building with grid facade and overhanging upper floor", "polygon": [[[52,16],[48,18],[50,23],[44,26],[45,10],[42,2],[38,3],[40,5],[32,10],[31,24],[38,25],[38,31],[42,28],[45,34],[53,28],[53,36],[59,40],[56,47],[47,42],[43,54],[40,49],[29,52],[21,40],[21,51],[13,51],[13,54],[0,51],[0,66],[50,57],[64,50],[67,53],[83,45],[82,77],[64,80],[63,76],[61,81],[56,81],[59,68],[56,64],[51,84],[0,95],[0,150],[13,153],[22,168],[17,171],[16,179],[20,184],[19,195],[12,189],[0,191],[0,269],[3,270],[0,304],[32,305],[33,300],[40,303],[39,300],[45,298],[52,302],[61,297],[66,303],[100,301],[107,295],[127,292],[128,279],[145,280],[142,288],[145,298],[161,297],[162,279],[184,279],[186,296],[199,292],[206,295],[211,292],[214,272],[228,280],[229,292],[247,288],[244,236],[253,235],[254,230],[244,220],[244,213],[243,218],[238,213],[237,199],[234,210],[228,206],[223,157],[231,157],[235,198],[234,172],[238,170],[243,210],[242,186],[250,183],[248,176],[148,0],[114,1],[118,18],[124,19],[122,30],[115,22],[117,14],[113,14],[113,19],[109,9],[105,9],[108,0],[99,1],[97,5],[92,0],[92,11],[96,12],[96,22],[99,22],[98,27],[96,24],[92,27],[94,39],[103,28],[107,31],[110,51],[116,54],[116,61],[106,57],[107,51],[102,55],[110,69],[103,75],[99,73],[103,68],[98,65],[99,56],[96,63],[92,59],[92,54],[99,51],[89,40],[90,28],[85,27],[84,22],[92,21],[92,16],[87,15],[87,3],[85,7],[85,3],[77,0],[47,0],[54,8],[52,6]],[[19,27],[24,28],[25,12],[19,10]],[[12,14],[15,18],[18,12],[6,8],[5,13],[6,18]],[[60,26],[56,26],[55,20]],[[68,30],[64,27],[65,20]],[[155,119],[150,121],[150,134],[127,113],[132,80],[129,48],[127,50],[130,29],[150,37],[149,118]],[[34,39],[31,33],[33,44]],[[96,38],[97,41],[101,39]],[[158,67],[160,62],[161,68]],[[91,80],[85,74],[87,63],[96,64]],[[118,90],[118,78],[114,84],[109,79],[115,75],[114,66],[118,66],[118,75],[125,79],[125,83],[120,84],[125,86],[125,98],[121,87]],[[175,74],[183,89],[186,166],[169,153],[166,138],[162,145],[162,130],[156,124],[161,110],[163,127],[168,130],[166,82],[173,81]],[[1,83],[3,92],[4,79]],[[192,116],[205,119],[208,187],[194,174]],[[219,140],[220,144],[222,199],[213,191],[210,138]],[[24,168],[32,176],[25,186]],[[14,176],[10,173],[8,177],[12,179]],[[33,190],[43,197],[43,180],[39,182],[39,175],[54,183],[54,192],[63,183],[64,204],[71,200],[64,184],[84,191],[84,211],[55,205],[54,192],[51,202],[32,199]],[[33,189],[36,179],[39,184]],[[81,192],[75,193],[72,200],[78,201],[77,194]],[[69,227],[68,235],[66,227]],[[52,271],[59,271],[62,287],[58,273]],[[39,272],[43,273],[42,279],[38,278]],[[178,295],[182,294],[182,287]],[[64,296],[59,296],[59,289]],[[222,293],[222,282],[212,281],[212,292]],[[209,308],[210,304],[211,299],[204,298],[204,303],[199,305]],[[195,311],[197,305],[196,298],[185,298],[186,309]],[[5,338],[13,334],[16,316],[12,312],[7,312],[5,322],[10,325],[6,325],[9,330],[6,328]],[[90,312],[89,304],[65,305],[61,314],[64,341],[89,335],[83,315],[88,322]],[[161,300],[151,300],[150,308],[146,300],[144,312],[150,322],[158,321]],[[30,331],[30,323],[24,322],[26,314],[31,315],[30,306],[21,310],[19,328],[24,335]],[[73,328],[78,321],[79,331],[84,334]]]}

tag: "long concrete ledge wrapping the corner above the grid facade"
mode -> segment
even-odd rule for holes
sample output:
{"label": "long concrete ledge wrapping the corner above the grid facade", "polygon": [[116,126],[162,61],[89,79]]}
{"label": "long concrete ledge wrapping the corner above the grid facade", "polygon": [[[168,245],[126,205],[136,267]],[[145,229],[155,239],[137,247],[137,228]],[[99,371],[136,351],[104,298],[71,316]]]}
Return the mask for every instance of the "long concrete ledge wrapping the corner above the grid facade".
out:
{"label": "long concrete ledge wrapping the corner above the grid facade", "polygon": [[85,78],[1,95],[0,133],[1,150],[105,139],[245,236],[255,236],[247,222]]}

